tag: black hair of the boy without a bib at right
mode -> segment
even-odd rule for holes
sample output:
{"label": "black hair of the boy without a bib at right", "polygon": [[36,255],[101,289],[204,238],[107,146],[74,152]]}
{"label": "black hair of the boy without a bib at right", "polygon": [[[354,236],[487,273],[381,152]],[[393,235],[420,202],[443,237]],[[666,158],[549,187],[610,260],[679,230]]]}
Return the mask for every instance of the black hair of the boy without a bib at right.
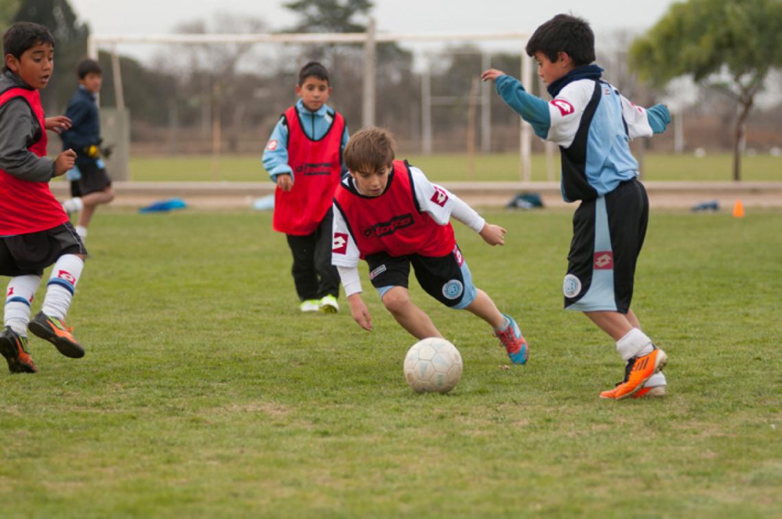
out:
{"label": "black hair of the boy without a bib at right", "polygon": [[530,56],[543,52],[552,62],[559,52],[566,52],[574,65],[589,65],[594,61],[594,33],[587,20],[558,14],[535,30],[526,52]]}

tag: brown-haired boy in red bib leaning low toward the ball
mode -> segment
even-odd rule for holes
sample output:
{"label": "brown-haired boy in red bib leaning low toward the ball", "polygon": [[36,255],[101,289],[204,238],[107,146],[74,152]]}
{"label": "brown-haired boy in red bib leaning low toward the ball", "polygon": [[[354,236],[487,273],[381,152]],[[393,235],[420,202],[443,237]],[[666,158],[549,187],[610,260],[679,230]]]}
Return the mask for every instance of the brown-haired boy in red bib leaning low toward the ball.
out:
{"label": "brown-haired boy in red bib leaning low toward the ball", "polygon": [[407,282],[412,265],[429,295],[485,320],[511,361],[526,363],[529,347],[518,325],[472,284],[450,217],[489,245],[504,245],[505,230],[487,224],[453,193],[430,183],[418,168],[394,160],[393,148],[392,135],[376,127],[353,134],[345,148],[350,175],[334,196],[332,263],[339,270],[353,319],[361,328],[372,329],[357,270],[359,259],[364,259],[383,305],[405,330],[419,339],[443,337],[411,302]]}

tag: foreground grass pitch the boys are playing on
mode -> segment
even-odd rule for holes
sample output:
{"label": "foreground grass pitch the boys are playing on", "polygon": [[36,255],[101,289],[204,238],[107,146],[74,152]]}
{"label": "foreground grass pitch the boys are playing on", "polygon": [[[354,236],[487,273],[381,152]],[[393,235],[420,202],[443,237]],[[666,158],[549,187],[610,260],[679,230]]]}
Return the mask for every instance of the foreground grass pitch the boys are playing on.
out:
{"label": "foreground grass pitch the boys are playing on", "polygon": [[465,361],[419,396],[366,277],[375,331],[297,312],[267,213],[102,209],[87,356],[34,338],[40,372],[0,374],[0,517],[779,517],[782,213],[652,214],[633,308],[669,396],[622,402],[615,346],[561,310],[571,214],[485,216],[508,245],[457,238],[529,364],[413,281]]}

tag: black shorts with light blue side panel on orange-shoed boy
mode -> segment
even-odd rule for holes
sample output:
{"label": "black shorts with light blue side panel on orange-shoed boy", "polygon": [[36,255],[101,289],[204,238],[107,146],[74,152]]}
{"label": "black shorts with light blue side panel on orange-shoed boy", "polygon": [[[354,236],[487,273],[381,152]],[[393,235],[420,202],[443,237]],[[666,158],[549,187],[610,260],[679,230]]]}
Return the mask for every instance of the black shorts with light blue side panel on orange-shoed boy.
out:
{"label": "black shorts with light blue side panel on orange-shoed boy", "polygon": [[568,273],[562,285],[565,308],[627,313],[633,278],[649,220],[649,199],[639,181],[585,200],[573,215]]}

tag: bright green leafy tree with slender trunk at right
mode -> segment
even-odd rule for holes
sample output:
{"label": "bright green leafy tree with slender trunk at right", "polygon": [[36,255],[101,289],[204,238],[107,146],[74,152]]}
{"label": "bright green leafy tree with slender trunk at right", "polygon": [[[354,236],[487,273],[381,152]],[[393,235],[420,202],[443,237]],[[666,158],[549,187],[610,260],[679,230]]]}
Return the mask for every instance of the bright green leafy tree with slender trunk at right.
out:
{"label": "bright green leafy tree with slender trunk at right", "polygon": [[782,1],[689,0],[671,5],[630,48],[640,77],[662,85],[691,74],[737,103],[735,181],[741,179],[741,140],[755,95],[770,70],[782,66]]}

